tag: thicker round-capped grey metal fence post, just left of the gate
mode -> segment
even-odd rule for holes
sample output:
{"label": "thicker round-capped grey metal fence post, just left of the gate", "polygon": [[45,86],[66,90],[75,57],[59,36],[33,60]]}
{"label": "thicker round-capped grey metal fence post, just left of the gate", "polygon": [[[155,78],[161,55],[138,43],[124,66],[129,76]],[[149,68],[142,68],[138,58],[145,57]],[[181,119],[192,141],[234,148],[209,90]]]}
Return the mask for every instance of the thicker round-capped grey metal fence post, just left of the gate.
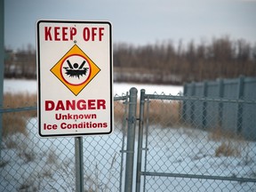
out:
{"label": "thicker round-capped grey metal fence post, just left of the gate", "polygon": [[134,142],[136,126],[136,109],[137,109],[137,89],[130,89],[129,113],[128,113],[128,130],[127,130],[127,149],[126,149],[126,166],[125,166],[125,183],[124,191],[132,192],[132,176],[134,161]]}

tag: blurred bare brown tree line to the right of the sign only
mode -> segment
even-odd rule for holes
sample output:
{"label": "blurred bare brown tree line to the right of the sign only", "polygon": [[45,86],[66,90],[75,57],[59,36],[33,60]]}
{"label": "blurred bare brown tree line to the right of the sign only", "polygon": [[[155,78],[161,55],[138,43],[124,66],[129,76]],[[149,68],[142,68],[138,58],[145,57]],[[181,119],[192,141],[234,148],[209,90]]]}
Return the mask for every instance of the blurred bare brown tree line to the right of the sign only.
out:
{"label": "blurred bare brown tree line to the right of the sign only", "polygon": [[256,76],[256,44],[249,44],[244,39],[232,41],[228,36],[213,38],[210,44],[193,41],[186,45],[180,41],[178,46],[172,41],[137,47],[116,44],[114,66],[123,73],[124,68],[130,68],[126,71],[131,74],[138,71],[142,75],[155,74],[148,81],[162,84]]}

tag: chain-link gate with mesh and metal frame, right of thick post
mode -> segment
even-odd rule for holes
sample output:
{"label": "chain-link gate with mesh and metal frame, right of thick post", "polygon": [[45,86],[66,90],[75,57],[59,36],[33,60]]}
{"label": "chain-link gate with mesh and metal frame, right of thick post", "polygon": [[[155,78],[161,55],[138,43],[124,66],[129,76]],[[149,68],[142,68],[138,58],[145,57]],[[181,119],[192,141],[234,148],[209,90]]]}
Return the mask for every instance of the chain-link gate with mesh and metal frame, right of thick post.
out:
{"label": "chain-link gate with mesh and metal frame, right of thick post", "polygon": [[255,100],[141,90],[136,191],[256,191],[255,117]]}

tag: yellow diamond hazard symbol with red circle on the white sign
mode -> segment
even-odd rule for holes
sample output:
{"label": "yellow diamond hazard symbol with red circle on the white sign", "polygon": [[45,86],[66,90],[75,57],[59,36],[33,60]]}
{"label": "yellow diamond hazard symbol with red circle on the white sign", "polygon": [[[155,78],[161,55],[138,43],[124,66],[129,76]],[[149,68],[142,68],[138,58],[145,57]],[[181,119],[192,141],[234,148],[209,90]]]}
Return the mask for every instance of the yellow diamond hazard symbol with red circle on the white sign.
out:
{"label": "yellow diamond hazard symbol with red circle on the white sign", "polygon": [[100,72],[100,68],[75,44],[51,71],[71,92],[78,95]]}

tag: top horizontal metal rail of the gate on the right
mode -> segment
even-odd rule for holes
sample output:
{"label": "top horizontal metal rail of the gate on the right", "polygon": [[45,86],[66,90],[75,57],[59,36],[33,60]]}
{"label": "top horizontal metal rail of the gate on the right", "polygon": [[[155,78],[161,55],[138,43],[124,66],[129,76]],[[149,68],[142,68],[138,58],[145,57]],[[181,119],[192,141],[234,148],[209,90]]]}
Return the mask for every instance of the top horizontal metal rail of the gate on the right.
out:
{"label": "top horizontal metal rail of the gate on the right", "polygon": [[196,97],[196,96],[180,96],[180,95],[157,95],[157,94],[145,94],[146,99],[151,100],[200,100],[200,101],[212,101],[212,102],[228,102],[228,103],[244,103],[244,104],[256,104],[256,100],[242,100],[242,99],[228,99],[228,98],[210,98],[210,97]]}

